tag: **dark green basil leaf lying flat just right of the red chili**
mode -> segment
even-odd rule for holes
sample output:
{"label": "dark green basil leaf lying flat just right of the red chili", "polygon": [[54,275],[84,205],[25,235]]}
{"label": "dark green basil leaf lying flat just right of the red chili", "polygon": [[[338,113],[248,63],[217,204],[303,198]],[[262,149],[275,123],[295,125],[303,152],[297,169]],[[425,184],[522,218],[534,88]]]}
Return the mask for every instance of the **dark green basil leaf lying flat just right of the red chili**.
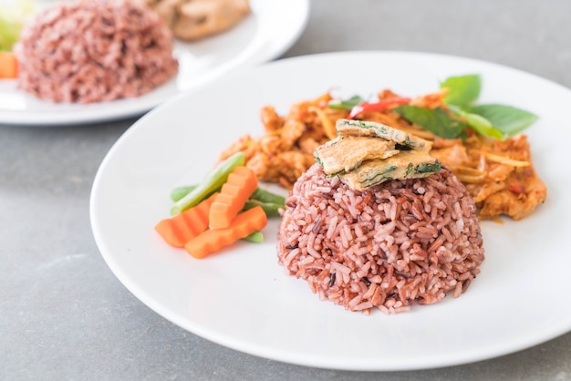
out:
{"label": "dark green basil leaf lying flat just right of the red chili", "polygon": [[428,129],[433,134],[444,139],[456,139],[462,136],[466,124],[451,118],[442,108],[420,108],[418,106],[403,105],[394,108],[402,118]]}

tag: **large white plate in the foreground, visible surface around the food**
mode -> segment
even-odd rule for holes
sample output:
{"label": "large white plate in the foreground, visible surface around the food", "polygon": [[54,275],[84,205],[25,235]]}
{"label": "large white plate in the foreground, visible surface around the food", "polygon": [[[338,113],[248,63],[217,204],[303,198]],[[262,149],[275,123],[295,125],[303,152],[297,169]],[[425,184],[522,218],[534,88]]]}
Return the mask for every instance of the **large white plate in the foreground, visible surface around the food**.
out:
{"label": "large white plate in the foreground, visible surface around the food", "polygon": [[[204,260],[168,247],[153,231],[169,215],[171,188],[200,180],[244,133],[261,135],[262,106],[285,114],[330,88],[422,95],[445,77],[469,73],[483,77],[481,101],[539,115],[527,133],[549,192],[524,221],[483,222],[487,258],[460,298],[405,314],[350,313],[285,275],[275,255],[277,221],[265,243],[240,242]],[[555,83],[461,57],[354,52],[265,64],[175,98],[136,122],[95,178],[93,233],[110,269],[140,301],[196,335],[249,354],[303,366],[403,370],[512,353],[571,329],[568,104],[571,91]]]}

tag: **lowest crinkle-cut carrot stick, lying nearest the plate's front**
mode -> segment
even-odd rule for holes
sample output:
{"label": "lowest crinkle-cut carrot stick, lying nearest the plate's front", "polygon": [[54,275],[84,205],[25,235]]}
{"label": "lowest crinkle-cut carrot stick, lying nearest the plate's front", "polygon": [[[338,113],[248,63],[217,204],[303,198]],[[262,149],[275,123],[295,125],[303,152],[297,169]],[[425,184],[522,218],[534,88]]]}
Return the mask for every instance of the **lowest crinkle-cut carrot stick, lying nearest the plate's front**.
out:
{"label": "lowest crinkle-cut carrot stick, lying nearest the plate's front", "polygon": [[184,245],[184,248],[194,258],[204,258],[206,255],[222,249],[253,232],[262,230],[267,224],[267,216],[260,206],[240,213],[232,224],[223,229],[209,229]]}

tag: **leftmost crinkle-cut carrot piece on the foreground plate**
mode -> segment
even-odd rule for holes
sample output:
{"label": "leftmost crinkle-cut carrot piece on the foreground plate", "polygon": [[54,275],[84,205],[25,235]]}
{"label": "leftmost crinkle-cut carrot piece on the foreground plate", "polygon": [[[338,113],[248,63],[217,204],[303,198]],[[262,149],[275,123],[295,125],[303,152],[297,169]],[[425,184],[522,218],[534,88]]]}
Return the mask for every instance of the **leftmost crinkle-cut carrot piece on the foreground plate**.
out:
{"label": "leftmost crinkle-cut carrot piece on the foreground plate", "polygon": [[208,214],[217,194],[213,193],[198,205],[159,221],[155,231],[171,246],[184,247],[186,242],[208,229]]}

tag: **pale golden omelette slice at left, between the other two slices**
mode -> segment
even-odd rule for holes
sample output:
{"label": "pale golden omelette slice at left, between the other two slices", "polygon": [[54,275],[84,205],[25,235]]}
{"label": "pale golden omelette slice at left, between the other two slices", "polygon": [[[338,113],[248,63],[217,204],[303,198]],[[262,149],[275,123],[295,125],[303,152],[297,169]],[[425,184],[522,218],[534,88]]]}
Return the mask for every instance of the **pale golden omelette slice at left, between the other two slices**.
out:
{"label": "pale golden omelette slice at left, between the other two slices", "polygon": [[365,160],[387,159],[397,153],[392,141],[348,136],[317,147],[314,157],[327,175],[336,175],[357,168]]}

